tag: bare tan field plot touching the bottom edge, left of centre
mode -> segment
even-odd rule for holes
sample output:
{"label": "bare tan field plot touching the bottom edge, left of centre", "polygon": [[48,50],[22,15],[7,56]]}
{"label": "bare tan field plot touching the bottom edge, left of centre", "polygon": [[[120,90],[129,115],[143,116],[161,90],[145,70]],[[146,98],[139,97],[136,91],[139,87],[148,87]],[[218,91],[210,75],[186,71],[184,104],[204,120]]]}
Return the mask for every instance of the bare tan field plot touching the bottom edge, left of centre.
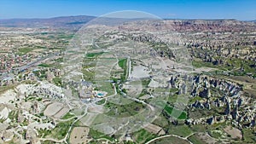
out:
{"label": "bare tan field plot touching the bottom edge, left of centre", "polygon": [[90,129],[87,127],[75,127],[73,128],[70,135],[70,143],[79,144],[79,143],[88,143],[90,140],[87,138]]}

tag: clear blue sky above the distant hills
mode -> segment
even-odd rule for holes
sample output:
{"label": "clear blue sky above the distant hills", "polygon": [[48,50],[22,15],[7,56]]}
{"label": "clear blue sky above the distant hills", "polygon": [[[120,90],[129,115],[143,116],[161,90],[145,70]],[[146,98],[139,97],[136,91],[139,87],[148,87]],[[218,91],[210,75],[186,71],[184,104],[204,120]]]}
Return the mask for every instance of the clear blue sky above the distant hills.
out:
{"label": "clear blue sky above the distant hills", "polygon": [[0,0],[0,19],[137,10],[164,19],[256,20],[256,0]]}

